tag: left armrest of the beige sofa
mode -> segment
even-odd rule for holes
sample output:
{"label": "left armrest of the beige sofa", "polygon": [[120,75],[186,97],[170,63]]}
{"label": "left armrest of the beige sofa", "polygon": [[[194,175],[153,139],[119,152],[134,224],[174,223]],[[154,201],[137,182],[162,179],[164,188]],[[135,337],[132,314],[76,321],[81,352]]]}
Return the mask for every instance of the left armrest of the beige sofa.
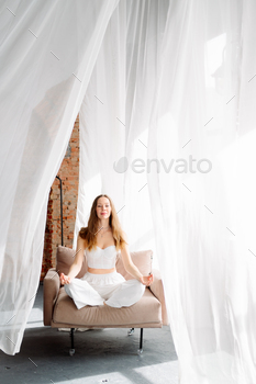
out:
{"label": "left armrest of the beige sofa", "polygon": [[55,268],[51,268],[44,278],[44,325],[51,326],[53,308],[58,296],[60,280]]}

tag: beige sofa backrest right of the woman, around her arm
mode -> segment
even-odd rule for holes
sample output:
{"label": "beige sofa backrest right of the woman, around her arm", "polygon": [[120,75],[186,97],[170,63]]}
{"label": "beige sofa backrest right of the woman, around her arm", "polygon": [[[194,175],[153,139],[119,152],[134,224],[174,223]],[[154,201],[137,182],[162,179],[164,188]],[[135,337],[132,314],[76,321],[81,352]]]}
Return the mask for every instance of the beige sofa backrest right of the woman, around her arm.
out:
{"label": "beige sofa backrest right of the woman, around her arm", "polygon": [[[151,249],[148,250],[140,250],[140,251],[133,251],[130,252],[132,261],[137,267],[140,272],[147,276],[152,272],[152,259],[153,259],[153,251]],[[125,280],[134,279],[130,273],[125,271],[121,253],[119,252],[116,264],[115,264],[116,271],[121,273]]]}

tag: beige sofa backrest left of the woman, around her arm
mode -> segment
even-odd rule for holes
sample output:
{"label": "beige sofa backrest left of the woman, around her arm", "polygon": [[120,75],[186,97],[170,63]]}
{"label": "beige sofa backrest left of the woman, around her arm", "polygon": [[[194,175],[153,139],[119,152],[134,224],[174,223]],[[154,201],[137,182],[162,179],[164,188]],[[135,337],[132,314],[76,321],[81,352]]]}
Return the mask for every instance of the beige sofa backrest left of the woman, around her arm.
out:
{"label": "beige sofa backrest left of the woman, around her arm", "polygon": [[[58,271],[58,274],[64,273],[67,274],[69,271],[69,268],[71,267],[74,262],[74,256],[76,255],[76,250],[67,247],[58,246],[57,253],[56,253],[56,271]],[[87,261],[86,257],[84,257],[82,266],[80,272],[77,274],[76,278],[82,278],[84,274],[87,272]]]}

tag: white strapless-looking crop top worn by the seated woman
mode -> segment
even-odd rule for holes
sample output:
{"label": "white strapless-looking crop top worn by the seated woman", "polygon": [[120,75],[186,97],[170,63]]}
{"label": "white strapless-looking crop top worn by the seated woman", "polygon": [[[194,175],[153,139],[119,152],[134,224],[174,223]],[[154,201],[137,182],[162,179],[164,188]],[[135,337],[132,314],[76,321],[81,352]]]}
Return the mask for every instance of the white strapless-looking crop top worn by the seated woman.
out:
{"label": "white strapless-looking crop top worn by the seated woman", "polygon": [[116,261],[115,246],[109,246],[104,249],[97,246],[97,249],[90,251],[86,248],[87,263],[89,268],[97,269],[112,269],[115,267]]}

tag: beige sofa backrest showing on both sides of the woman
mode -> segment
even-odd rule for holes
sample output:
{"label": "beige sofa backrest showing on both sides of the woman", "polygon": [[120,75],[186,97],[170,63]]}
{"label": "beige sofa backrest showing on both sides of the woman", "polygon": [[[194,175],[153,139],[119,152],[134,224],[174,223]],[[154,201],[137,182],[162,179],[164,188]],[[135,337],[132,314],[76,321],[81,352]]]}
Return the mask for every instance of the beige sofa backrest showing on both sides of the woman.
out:
{"label": "beige sofa backrest showing on both sides of the woman", "polygon": [[[58,246],[57,252],[56,252],[56,271],[58,271],[58,274],[60,274],[62,272],[65,274],[68,273],[69,268],[71,267],[75,260],[74,259],[75,255],[76,255],[75,249]],[[140,250],[140,251],[130,252],[130,255],[134,264],[138,268],[141,273],[143,275],[148,275],[152,271],[153,251],[151,249]],[[116,271],[121,273],[125,280],[134,279],[131,274],[129,274],[125,271],[120,252],[118,253],[115,268],[116,268]],[[87,272],[87,260],[85,257],[82,261],[81,270],[78,273],[77,278],[78,279],[82,278],[86,272]]]}

